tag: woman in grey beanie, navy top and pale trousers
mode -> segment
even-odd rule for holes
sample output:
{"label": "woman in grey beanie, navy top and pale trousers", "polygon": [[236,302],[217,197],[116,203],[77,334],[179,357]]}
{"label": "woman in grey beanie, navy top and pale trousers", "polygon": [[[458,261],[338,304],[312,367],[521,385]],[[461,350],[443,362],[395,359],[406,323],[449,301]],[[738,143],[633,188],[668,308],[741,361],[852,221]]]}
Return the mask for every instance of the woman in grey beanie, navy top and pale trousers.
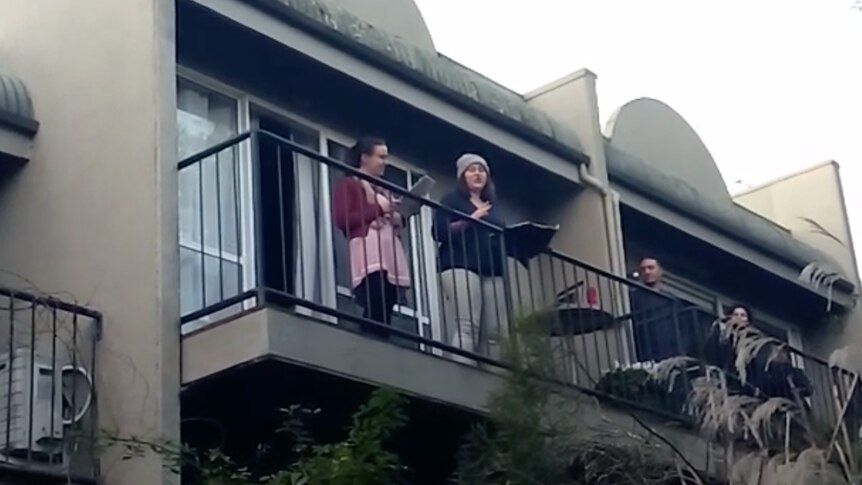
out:
{"label": "woman in grey beanie, navy top and pale trousers", "polygon": [[[456,162],[457,188],[441,204],[469,218],[438,210],[433,233],[440,243],[440,280],[448,343],[469,351],[499,356],[508,331],[499,233],[476,221],[502,228],[488,162],[467,153]],[[463,360],[463,359],[461,359]]]}

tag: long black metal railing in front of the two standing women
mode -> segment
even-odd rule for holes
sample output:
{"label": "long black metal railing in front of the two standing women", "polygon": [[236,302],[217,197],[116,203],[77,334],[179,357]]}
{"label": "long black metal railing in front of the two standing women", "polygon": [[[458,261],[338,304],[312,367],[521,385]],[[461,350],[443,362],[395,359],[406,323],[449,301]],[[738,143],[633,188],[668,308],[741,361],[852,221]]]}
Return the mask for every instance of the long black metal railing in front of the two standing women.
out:
{"label": "long black metal railing in front of the two standing women", "polygon": [[[710,355],[715,314],[559,252],[525,254],[529,242],[522,236],[411,193],[421,174],[390,167],[383,180],[370,177],[266,131],[183,160],[179,171],[185,325],[278,306],[417,351],[493,366],[502,364],[498,344],[512,323],[541,315],[556,380],[677,419],[691,380],[718,363]],[[360,189],[359,199],[338,197],[346,178],[375,189]],[[417,209],[409,217],[387,216],[363,197]],[[372,224],[378,234],[394,236],[369,240]],[[399,248],[403,258],[395,256]],[[388,264],[387,278],[363,285],[363,270],[380,261]],[[392,303],[388,319],[368,310],[381,301]],[[833,371],[791,354],[794,368],[809,376],[811,410],[834,423]],[[658,361],[674,356],[697,363],[671,384],[649,378]]]}

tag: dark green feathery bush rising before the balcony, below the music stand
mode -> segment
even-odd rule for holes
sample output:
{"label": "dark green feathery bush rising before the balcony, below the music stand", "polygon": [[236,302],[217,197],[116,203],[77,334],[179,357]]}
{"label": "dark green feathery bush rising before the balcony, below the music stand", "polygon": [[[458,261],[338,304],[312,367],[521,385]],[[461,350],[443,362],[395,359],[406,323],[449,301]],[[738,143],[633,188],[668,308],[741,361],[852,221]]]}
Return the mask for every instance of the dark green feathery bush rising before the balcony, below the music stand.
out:
{"label": "dark green feathery bush rising before the balcony, below the music stand", "polygon": [[560,363],[549,351],[542,317],[515,324],[504,346],[510,369],[506,384],[489,401],[490,424],[477,426],[464,443],[453,483],[678,483],[671,481],[680,472],[668,450],[653,440],[613,424],[598,430],[579,427],[583,396],[553,381]]}

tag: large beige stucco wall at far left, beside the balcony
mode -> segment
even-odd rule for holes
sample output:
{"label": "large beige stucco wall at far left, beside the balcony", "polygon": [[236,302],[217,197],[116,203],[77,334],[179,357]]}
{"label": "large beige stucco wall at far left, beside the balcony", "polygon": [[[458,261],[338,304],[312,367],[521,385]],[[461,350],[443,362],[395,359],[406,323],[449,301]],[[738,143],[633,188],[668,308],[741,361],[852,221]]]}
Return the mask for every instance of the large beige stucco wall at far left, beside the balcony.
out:
{"label": "large beige stucco wall at far left, beside the balcony", "polygon": [[[24,278],[105,315],[101,427],[177,439],[174,3],[4,0],[0,66],[41,122],[0,188],[0,283]],[[155,457],[102,458],[103,483],[174,481]]]}

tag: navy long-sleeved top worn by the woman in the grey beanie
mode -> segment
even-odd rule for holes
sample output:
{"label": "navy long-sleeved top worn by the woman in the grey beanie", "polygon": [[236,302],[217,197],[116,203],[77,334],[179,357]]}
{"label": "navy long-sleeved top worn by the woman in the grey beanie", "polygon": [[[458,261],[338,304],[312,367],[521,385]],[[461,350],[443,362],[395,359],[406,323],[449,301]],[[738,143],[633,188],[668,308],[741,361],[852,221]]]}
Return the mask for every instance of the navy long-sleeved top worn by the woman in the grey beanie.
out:
{"label": "navy long-sleeved top worn by the woman in the grey beanie", "polygon": [[[476,207],[470,196],[454,191],[443,197],[442,205],[465,214],[472,214]],[[466,221],[466,225],[453,229],[453,222]],[[505,225],[500,209],[492,204],[483,221],[501,229]],[[432,229],[434,239],[440,243],[439,270],[466,269],[480,276],[502,276],[506,258],[503,254],[501,232],[494,231],[473,219],[456,216],[448,211],[437,210]]]}

